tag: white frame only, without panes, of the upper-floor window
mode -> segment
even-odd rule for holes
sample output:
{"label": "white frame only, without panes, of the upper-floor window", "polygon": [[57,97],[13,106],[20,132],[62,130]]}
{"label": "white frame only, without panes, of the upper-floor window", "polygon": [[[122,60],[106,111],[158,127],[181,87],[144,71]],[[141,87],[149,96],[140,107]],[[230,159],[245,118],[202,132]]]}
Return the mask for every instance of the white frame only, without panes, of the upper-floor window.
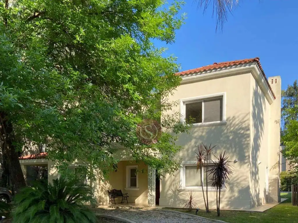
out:
{"label": "white frame only, without panes, of the upper-floor window", "polygon": [[[222,112],[223,112],[222,117],[223,117],[223,119],[222,119],[222,121],[204,123],[204,100],[210,100],[210,99],[216,99],[216,98],[222,98]],[[188,103],[194,103],[194,102],[203,102],[202,103],[202,123],[193,123],[192,125],[194,127],[225,125],[226,124],[226,92],[180,99],[180,114],[181,114],[180,121],[181,122],[185,123],[185,114],[186,114],[185,105]]]}

